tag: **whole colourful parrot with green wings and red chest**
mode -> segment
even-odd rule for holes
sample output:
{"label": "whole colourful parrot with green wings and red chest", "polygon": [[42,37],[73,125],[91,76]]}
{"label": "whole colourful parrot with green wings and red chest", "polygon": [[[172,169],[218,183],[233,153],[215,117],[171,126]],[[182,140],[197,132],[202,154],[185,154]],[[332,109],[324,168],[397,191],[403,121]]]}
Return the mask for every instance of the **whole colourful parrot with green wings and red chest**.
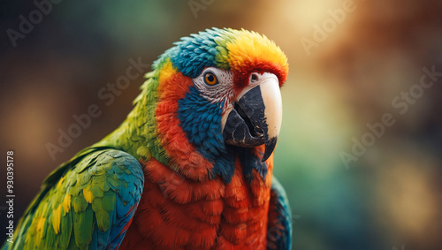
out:
{"label": "whole colourful parrot with green wings and red chest", "polygon": [[151,67],[123,123],[45,178],[3,249],[291,249],[272,173],[284,52],[212,27]]}

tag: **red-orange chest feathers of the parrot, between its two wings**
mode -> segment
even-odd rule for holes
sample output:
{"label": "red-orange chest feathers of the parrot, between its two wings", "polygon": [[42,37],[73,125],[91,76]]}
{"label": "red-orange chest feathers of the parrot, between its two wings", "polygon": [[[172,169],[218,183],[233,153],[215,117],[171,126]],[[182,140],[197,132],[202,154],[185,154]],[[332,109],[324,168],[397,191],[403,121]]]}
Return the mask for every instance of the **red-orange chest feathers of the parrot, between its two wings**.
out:
{"label": "red-orange chest feathers of the parrot, between its two wings", "polygon": [[240,161],[229,184],[183,178],[155,159],[120,249],[265,249],[272,157],[263,180],[248,182]]}

